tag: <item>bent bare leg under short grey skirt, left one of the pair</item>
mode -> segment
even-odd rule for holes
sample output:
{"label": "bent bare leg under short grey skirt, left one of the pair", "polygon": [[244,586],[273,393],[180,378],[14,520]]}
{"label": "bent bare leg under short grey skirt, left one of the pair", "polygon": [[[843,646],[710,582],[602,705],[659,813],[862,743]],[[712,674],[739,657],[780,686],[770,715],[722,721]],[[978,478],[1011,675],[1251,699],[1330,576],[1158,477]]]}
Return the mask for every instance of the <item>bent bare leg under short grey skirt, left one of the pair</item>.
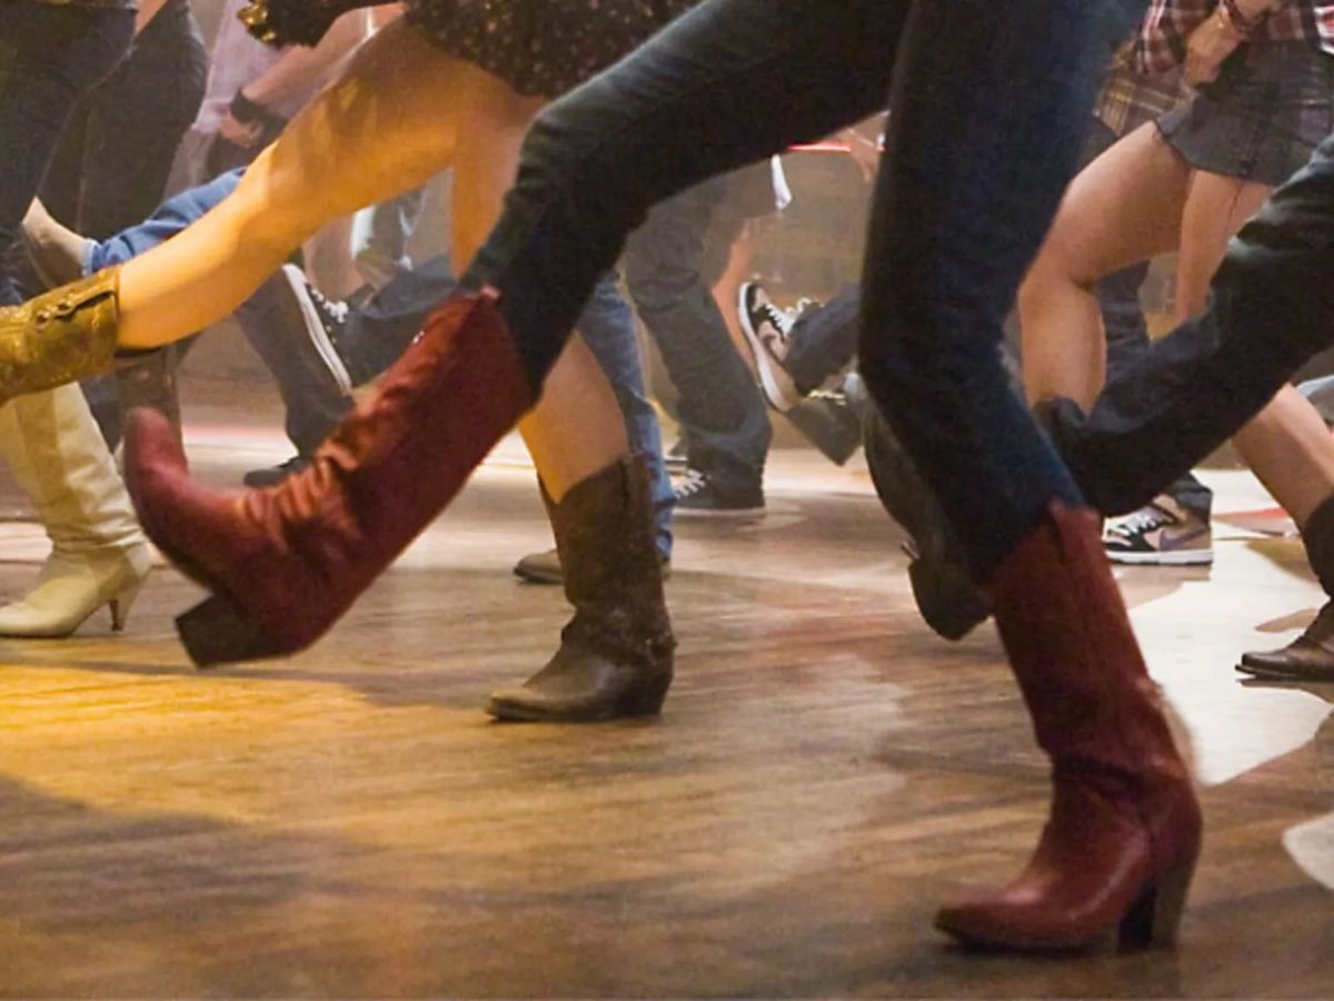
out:
{"label": "bent bare leg under short grey skirt, left one of the pair", "polygon": [[1190,168],[1153,124],[1075,178],[1019,290],[1029,400],[1069,396],[1089,408],[1106,372],[1105,275],[1177,248]]}

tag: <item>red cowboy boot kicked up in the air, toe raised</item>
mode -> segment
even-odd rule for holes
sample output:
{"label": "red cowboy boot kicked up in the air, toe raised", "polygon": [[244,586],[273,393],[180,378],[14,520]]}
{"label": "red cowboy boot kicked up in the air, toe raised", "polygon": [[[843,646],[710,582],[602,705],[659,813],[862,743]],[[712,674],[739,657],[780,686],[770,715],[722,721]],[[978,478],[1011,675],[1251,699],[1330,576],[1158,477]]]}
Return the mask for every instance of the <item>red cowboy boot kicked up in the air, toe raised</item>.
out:
{"label": "red cowboy boot kicked up in the air, toe raised", "polygon": [[315,642],[532,403],[494,299],[455,295],[311,466],[276,487],[221,492],[192,482],[169,422],[135,411],[125,472],[139,518],[213,591],[176,621],[195,663]]}

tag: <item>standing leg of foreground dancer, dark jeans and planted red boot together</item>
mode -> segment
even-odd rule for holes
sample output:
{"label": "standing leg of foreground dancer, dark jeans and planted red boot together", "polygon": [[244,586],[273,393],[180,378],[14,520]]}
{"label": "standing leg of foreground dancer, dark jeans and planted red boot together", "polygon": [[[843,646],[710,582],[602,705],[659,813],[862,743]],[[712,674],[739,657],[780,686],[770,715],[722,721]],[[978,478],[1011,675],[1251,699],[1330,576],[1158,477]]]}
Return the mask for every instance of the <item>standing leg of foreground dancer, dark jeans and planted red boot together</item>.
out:
{"label": "standing leg of foreground dancer, dark jeans and planted red boot together", "polygon": [[[995,946],[1167,940],[1199,850],[1199,810],[1098,519],[998,351],[1074,170],[1113,7],[1014,0],[987,5],[990,19],[972,3],[914,7],[863,283],[867,387],[987,583],[1055,766],[1050,822],[1019,880],[938,917]],[[1146,897],[1161,905],[1151,921],[1137,908]]]}

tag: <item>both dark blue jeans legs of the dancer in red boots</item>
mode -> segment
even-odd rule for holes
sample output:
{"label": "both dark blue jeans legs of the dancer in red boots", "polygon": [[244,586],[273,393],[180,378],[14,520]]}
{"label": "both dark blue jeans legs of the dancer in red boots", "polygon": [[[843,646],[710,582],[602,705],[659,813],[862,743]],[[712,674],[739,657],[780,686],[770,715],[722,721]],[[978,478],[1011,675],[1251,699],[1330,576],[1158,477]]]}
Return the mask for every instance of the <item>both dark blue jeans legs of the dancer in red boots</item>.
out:
{"label": "both dark blue jeans legs of the dancer in red boots", "polygon": [[499,291],[536,390],[651,206],[892,105],[862,366],[986,579],[1053,499],[1082,503],[1009,388],[1000,326],[1143,5],[707,0],[538,117],[464,284]]}

